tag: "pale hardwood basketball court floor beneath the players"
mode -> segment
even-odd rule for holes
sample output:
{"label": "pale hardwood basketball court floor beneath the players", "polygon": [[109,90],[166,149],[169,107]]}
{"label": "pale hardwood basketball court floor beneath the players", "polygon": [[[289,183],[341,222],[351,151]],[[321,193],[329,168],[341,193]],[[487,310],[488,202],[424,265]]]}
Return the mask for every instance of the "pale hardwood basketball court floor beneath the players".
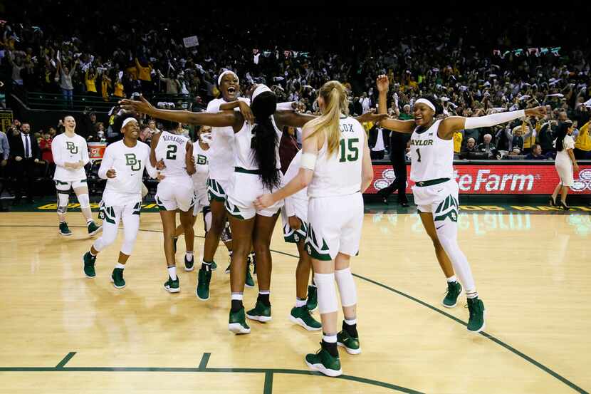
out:
{"label": "pale hardwood basketball court floor beneath the players", "polygon": [[[466,331],[464,296],[455,309],[441,306],[445,280],[417,214],[366,214],[352,264],[362,353],[341,351],[345,375],[336,379],[303,362],[320,333],[288,321],[297,250],[280,226],[271,244],[273,321],[249,321],[251,334],[234,336],[224,247],[203,302],[196,271],[182,270],[179,239],[181,292],[169,294],[159,215],[142,213],[127,286],[117,290],[110,273],[122,234],[88,279],[81,258],[92,241],[80,214],[68,213],[66,239],[55,212],[0,214],[0,393],[586,393],[591,216],[462,212],[459,242],[486,306],[486,333]],[[199,237],[197,258],[202,247]],[[246,308],[256,291],[246,289]]]}

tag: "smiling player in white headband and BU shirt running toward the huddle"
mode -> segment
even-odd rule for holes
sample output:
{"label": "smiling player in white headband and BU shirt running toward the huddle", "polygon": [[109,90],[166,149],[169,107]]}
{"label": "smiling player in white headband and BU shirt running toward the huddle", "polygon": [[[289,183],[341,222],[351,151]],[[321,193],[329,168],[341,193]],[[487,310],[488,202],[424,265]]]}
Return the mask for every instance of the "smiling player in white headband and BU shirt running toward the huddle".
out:
{"label": "smiling player in white headband and BU shirt running toward the huddle", "polygon": [[103,200],[100,202],[100,215],[103,218],[103,234],[83,256],[84,273],[89,278],[96,275],[96,256],[115,242],[119,222],[123,222],[125,238],[119,252],[119,259],[111,273],[111,281],[117,289],[125,287],[123,269],[130,258],[137,231],[140,229],[140,209],[142,204],[142,175],[144,168],[150,177],[157,177],[157,171],[150,164],[150,147],[138,142],[140,127],[137,120],[127,116],[122,120],[123,139],[110,144],[100,163],[98,176],[107,180]]}

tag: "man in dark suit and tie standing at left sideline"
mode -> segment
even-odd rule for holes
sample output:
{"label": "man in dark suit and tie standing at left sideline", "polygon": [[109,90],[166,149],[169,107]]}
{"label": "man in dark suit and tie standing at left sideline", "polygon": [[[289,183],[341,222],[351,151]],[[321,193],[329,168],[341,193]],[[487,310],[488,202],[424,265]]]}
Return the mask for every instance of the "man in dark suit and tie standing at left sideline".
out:
{"label": "man in dark suit and tie standing at left sideline", "polygon": [[31,135],[31,125],[23,123],[21,133],[13,135],[9,141],[12,171],[16,177],[14,202],[19,204],[25,189],[27,201],[33,203],[33,180],[36,163],[41,161],[41,150],[37,139]]}

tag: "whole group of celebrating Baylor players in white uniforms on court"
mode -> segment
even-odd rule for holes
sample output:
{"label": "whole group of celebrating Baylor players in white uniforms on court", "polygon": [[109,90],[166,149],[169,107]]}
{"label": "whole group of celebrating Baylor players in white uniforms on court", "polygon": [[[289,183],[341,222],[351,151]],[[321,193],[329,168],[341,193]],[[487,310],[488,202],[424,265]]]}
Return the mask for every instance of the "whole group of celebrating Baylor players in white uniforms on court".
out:
{"label": "whole group of celebrating Baylor players in white uniforms on court", "polygon": [[[367,136],[360,122],[381,122],[385,128],[399,133],[412,133],[411,180],[413,193],[424,227],[433,239],[436,256],[444,274],[448,291],[442,304],[454,307],[462,291],[469,306],[469,331],[479,332],[485,326],[484,306],[471,274],[466,256],[457,244],[458,187],[453,177],[453,133],[464,128],[487,127],[525,115],[543,115],[543,108],[487,115],[481,118],[450,117],[441,119],[440,105],[434,98],[421,98],[414,103],[414,120],[387,118],[386,94],[389,81],[377,78],[380,92],[379,114],[366,113],[351,118],[347,92],[338,81],[329,81],[318,91],[322,115],[316,117],[293,110],[293,103],[277,103],[276,95],[266,85],[253,85],[239,97],[239,79],[232,71],[218,78],[221,98],[209,103],[206,113],[182,110],[159,110],[141,98],[122,100],[128,111],[122,118],[122,140],[107,147],[99,177],[107,180],[100,202],[103,234],[83,256],[86,276],[95,276],[99,252],[112,244],[122,220],[124,242],[111,280],[117,288],[125,286],[123,271],[137,238],[142,203],[144,169],[157,178],[156,202],[160,208],[164,232],[164,254],[167,260],[167,281],[164,289],[180,291],[177,276],[176,239],[184,233],[186,253],[184,269],[194,269],[194,223],[202,212],[206,230],[204,254],[197,274],[197,298],[209,299],[211,271],[216,268],[214,254],[219,240],[229,247],[231,309],[228,328],[236,334],[250,333],[246,318],[271,321],[271,234],[281,212],[286,242],[298,246],[296,299],[290,319],[303,328],[323,330],[321,349],[305,356],[312,370],[329,376],[342,373],[337,346],[350,354],[360,353],[357,333],[357,291],[350,270],[350,257],[359,252],[363,222],[362,193],[372,181],[372,164]],[[138,142],[139,125],[135,113],[152,118],[201,125],[198,139],[164,131],[154,136],[151,146]],[[66,119],[64,142],[54,141],[56,150],[65,147],[68,162],[57,162],[68,177],[58,180],[58,214],[63,235],[69,232],[63,214],[62,193],[74,187],[83,205],[85,180],[80,157],[85,142],[68,132]],[[303,146],[288,167],[281,172],[278,146],[281,130],[293,126],[303,130]],[[70,141],[73,140],[73,141]],[[55,153],[54,153],[55,156]],[[63,155],[66,157],[67,155]],[[88,157],[88,155],[87,155]],[[64,159],[65,160],[65,159]],[[79,177],[79,178],[77,178]],[[75,178],[75,179],[74,179]],[[68,183],[69,182],[69,183]],[[81,194],[82,193],[82,194]],[[86,189],[85,199],[88,199]],[[67,199],[65,199],[67,207]],[[89,204],[86,204],[89,205]],[[85,206],[86,206],[85,205]],[[84,211],[83,211],[84,212]],[[180,226],[176,224],[179,212]],[[87,216],[88,213],[88,216]],[[84,212],[89,233],[98,232]],[[229,222],[231,239],[227,232]],[[243,305],[244,286],[253,286],[249,261],[256,260],[258,297],[253,309]],[[310,270],[313,284],[308,284]],[[456,274],[459,280],[456,279]],[[460,284],[461,282],[461,284]],[[463,286],[462,286],[463,285]],[[344,320],[338,331],[338,297]],[[321,322],[311,311],[318,305]]]}

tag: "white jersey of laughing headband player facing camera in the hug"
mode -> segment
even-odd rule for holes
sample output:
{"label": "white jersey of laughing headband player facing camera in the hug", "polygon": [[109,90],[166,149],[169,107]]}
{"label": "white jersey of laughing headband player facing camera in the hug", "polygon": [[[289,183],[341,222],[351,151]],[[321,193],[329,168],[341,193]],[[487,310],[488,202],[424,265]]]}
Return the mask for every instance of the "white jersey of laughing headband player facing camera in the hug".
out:
{"label": "white jersey of laughing headband player facing camera in the hug", "polygon": [[[248,98],[238,100],[250,105]],[[218,113],[219,106],[226,100],[215,98],[207,104],[208,113]],[[239,110],[239,108],[235,108]],[[211,145],[209,145],[209,173],[212,179],[229,180],[234,172],[234,128],[211,128]]]}

